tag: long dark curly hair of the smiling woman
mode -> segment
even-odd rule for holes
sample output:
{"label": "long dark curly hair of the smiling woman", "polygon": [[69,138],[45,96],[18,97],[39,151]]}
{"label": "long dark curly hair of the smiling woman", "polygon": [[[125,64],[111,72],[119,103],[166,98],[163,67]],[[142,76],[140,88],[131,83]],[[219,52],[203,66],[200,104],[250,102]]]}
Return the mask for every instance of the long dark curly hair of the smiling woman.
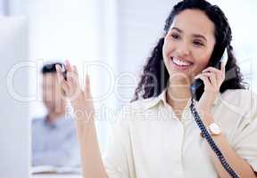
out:
{"label": "long dark curly hair of the smiling woman", "polygon": [[[164,36],[167,35],[175,16],[178,15],[179,12],[187,9],[203,11],[215,26],[214,36],[216,44],[211,53],[208,66],[213,67],[227,48],[228,62],[226,65],[225,80],[220,86],[220,93],[223,93],[228,89],[246,89],[246,83],[243,82],[242,74],[236,64],[236,58],[233,54],[233,47],[230,44],[232,40],[231,28],[224,12],[222,12],[217,5],[212,5],[205,0],[184,0],[173,7],[169,17],[165,20],[163,36],[159,39],[158,43],[153,48],[151,56],[146,61],[143,74],[139,80],[132,101],[158,96],[167,86],[169,73],[164,66],[162,57]],[[198,100],[203,93],[203,87],[204,86],[202,85],[195,92],[196,99],[198,98]]]}

